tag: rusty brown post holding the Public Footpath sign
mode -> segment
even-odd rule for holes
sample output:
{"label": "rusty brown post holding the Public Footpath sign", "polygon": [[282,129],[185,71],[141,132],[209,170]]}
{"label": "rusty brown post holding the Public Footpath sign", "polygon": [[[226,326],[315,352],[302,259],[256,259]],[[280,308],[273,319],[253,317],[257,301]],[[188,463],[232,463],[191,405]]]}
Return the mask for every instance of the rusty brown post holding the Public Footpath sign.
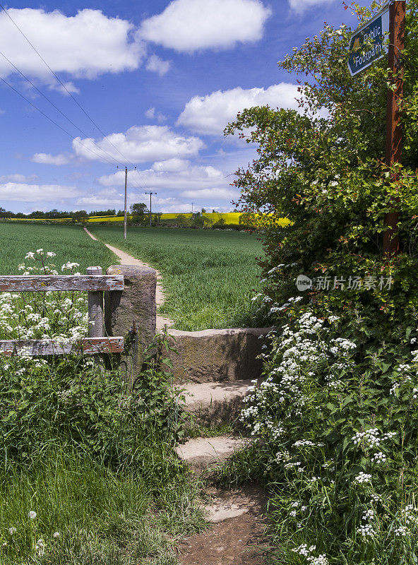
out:
{"label": "rusty brown post holding the Public Footpath sign", "polygon": [[[386,165],[391,167],[402,159],[402,122],[400,119],[400,102],[403,97],[404,66],[402,51],[405,47],[405,11],[406,1],[395,0],[390,4],[389,11],[389,53],[388,67],[393,73],[394,90],[388,88],[386,106]],[[399,179],[397,173],[391,175],[392,182]],[[388,230],[383,232],[383,252],[388,255],[398,254],[398,210],[386,213],[385,225]]]}

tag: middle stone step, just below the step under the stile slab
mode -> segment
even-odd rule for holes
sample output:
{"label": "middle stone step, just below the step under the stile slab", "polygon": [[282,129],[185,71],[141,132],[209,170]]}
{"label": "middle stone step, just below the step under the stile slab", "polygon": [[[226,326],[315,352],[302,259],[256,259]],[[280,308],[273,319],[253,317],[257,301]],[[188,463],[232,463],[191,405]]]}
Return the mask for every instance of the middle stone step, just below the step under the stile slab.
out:
{"label": "middle stone step, just below the step under the stile slab", "polygon": [[191,470],[201,473],[210,466],[223,463],[234,451],[249,443],[250,439],[237,436],[199,437],[177,446],[176,453],[181,460],[189,463]]}

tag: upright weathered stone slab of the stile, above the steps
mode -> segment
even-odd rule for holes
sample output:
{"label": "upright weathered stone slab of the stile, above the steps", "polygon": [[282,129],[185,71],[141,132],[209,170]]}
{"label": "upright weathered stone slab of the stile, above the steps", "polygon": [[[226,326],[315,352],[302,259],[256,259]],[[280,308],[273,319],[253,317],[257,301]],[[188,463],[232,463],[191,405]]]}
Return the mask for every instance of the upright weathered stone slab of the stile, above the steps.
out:
{"label": "upright weathered stone slab of the stile, above the steps", "polygon": [[179,383],[258,379],[261,361],[256,357],[265,341],[263,335],[271,329],[169,330],[173,345],[179,352],[179,355],[169,355],[174,379]]}

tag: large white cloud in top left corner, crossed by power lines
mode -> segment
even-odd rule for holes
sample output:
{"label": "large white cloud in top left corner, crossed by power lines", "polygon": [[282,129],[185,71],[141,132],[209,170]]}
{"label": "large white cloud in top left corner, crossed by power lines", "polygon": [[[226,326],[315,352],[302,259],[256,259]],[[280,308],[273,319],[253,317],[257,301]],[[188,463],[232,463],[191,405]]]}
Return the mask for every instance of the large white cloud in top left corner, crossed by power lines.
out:
{"label": "large white cloud in top left corner, crossed by power lines", "polygon": [[[132,37],[133,25],[108,18],[100,10],[86,8],[76,16],[32,8],[9,8],[8,13],[56,73],[95,78],[138,69],[145,57],[143,42]],[[23,73],[54,84],[50,71],[4,12],[0,13],[0,51]],[[13,72],[1,59],[0,76]]]}

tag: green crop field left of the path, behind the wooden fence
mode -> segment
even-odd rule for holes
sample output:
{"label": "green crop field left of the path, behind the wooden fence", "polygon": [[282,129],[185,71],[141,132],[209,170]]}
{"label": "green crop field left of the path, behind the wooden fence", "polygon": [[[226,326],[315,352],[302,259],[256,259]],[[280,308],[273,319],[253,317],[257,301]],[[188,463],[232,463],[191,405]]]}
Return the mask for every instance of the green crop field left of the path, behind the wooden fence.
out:
{"label": "green crop field left of the path, behind the wooden fence", "polygon": [[117,262],[112,251],[93,241],[79,226],[1,222],[0,242],[2,275],[18,274],[18,266],[21,263],[33,265],[33,262],[25,261],[25,255],[28,251],[41,248],[56,254],[50,261],[59,271],[61,265],[67,261],[80,263],[80,273],[85,273],[85,269],[90,266],[101,266],[105,269]]}

